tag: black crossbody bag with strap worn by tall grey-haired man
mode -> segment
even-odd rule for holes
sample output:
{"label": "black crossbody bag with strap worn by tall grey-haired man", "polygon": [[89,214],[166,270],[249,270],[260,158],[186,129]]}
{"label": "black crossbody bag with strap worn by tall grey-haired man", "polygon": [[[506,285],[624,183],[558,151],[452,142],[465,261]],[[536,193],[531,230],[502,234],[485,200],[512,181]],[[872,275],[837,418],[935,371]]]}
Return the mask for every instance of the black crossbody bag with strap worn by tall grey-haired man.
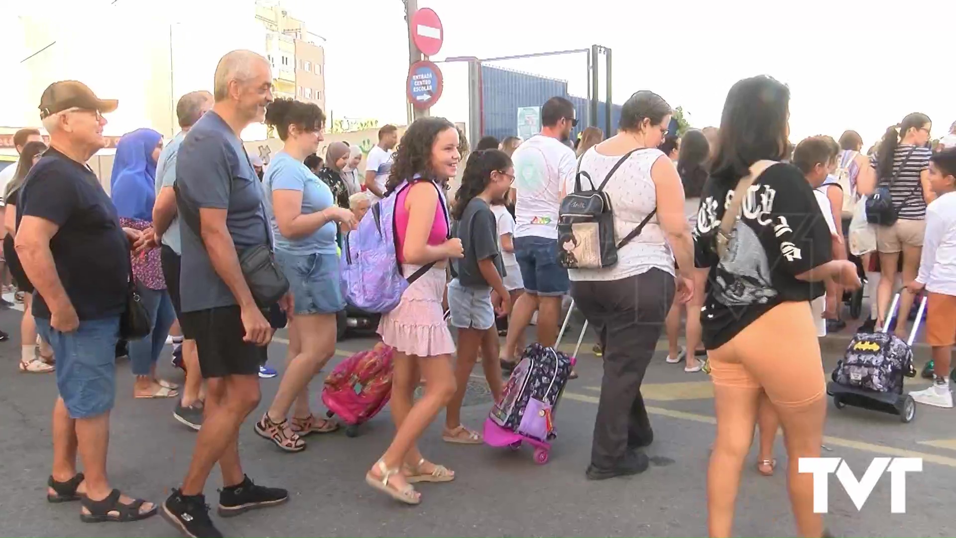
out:
{"label": "black crossbody bag with strap worn by tall grey-haired man", "polygon": [[[248,154],[246,158],[249,159]],[[183,217],[183,221],[192,233],[202,240],[199,212],[193,211],[186,204],[179,181],[173,183],[173,191],[176,192],[176,206],[179,215]],[[265,213],[264,208],[263,214]],[[239,258],[239,267],[242,269],[243,277],[246,278],[246,284],[249,286],[249,291],[256,305],[260,308],[271,308],[273,304],[278,303],[289,292],[289,280],[279,269],[272,253],[272,229],[270,229],[268,217],[265,225],[266,244],[255,245],[243,250],[236,249],[236,256]]]}

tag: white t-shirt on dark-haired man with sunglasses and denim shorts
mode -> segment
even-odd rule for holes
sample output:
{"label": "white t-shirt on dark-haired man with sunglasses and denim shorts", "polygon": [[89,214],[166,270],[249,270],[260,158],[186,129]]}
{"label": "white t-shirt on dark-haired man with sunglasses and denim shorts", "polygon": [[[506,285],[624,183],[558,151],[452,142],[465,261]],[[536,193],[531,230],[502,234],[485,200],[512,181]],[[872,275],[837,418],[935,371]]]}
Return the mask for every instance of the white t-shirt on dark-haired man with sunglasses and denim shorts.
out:
{"label": "white t-shirt on dark-haired man with sunglasses and denim shorts", "polygon": [[514,236],[557,238],[561,185],[574,179],[575,152],[559,140],[534,135],[514,150]]}

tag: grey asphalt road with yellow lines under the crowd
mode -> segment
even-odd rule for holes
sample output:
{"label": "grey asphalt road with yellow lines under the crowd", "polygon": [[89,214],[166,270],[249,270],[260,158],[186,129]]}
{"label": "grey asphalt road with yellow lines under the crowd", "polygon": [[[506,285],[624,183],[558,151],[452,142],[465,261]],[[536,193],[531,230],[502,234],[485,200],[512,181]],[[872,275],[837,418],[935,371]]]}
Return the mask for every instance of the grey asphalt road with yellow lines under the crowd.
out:
{"label": "grey asphalt road with yellow lines under the crowd", "polygon": [[[0,328],[14,333],[18,314],[0,312]],[[339,343],[339,356],[370,347],[372,340]],[[590,346],[585,346],[590,349]],[[77,504],[44,501],[50,472],[50,412],[55,397],[52,375],[16,371],[16,339],[0,344],[0,538],[165,538],[177,536],[160,517],[131,524],[88,525],[79,522]],[[270,349],[280,366],[285,346]],[[168,355],[168,350],[167,350]],[[242,457],[256,482],[293,492],[289,504],[218,520],[228,537],[322,538],[449,536],[511,537],[648,537],[689,538],[706,535],[706,462],[714,434],[712,392],[706,375],[686,374],[667,365],[659,352],[648,370],[644,393],[651,408],[655,442],[649,448],[655,465],[641,476],[588,482],[591,431],[597,409],[601,367],[589,353],[579,356],[580,378],[571,382],[556,416],[557,438],[551,460],[532,461],[529,449],[511,452],[488,446],[444,443],[440,422],[421,442],[424,454],[458,472],[447,484],[424,484],[423,504],[401,506],[372,491],[363,481],[392,433],[387,412],[363,428],[360,437],[341,433],[311,437],[300,454],[283,454],[252,432],[242,430]],[[836,355],[827,357],[828,364]],[[182,376],[163,357],[163,374]],[[195,434],[176,422],[170,400],[132,398],[133,378],[120,364],[119,395],[112,418],[109,470],[115,486],[160,502],[182,479]],[[331,365],[327,370],[331,370]],[[480,376],[480,369],[475,370]],[[480,381],[476,380],[476,385]],[[263,380],[261,414],[278,385]],[[916,380],[913,387],[923,383]],[[321,379],[312,384],[315,391]],[[479,391],[480,392],[480,391]],[[476,392],[477,394],[478,392]],[[314,401],[317,401],[314,392]],[[479,427],[489,405],[476,396],[465,410],[467,424]],[[316,412],[323,411],[319,404]],[[874,457],[922,457],[923,472],[908,475],[905,514],[890,514],[888,477],[878,482],[858,511],[835,478],[830,480],[829,525],[836,536],[853,538],[950,538],[956,536],[952,506],[956,502],[956,427],[951,410],[920,406],[916,419],[830,406],[825,456],[844,458],[860,476]],[[785,460],[778,438],[778,458]],[[924,444],[930,442],[931,444]],[[764,478],[753,470],[754,453],[744,472],[737,499],[739,538],[795,536],[786,480]],[[218,472],[206,495],[217,500]]]}

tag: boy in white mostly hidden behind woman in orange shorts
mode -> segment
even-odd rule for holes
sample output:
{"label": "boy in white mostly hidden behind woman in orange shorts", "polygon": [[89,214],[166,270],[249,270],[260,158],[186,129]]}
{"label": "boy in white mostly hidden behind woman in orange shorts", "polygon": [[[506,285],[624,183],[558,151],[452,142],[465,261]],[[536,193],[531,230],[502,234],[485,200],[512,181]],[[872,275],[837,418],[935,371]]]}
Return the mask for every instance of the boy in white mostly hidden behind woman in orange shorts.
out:
{"label": "boy in white mostly hidden behind woman in orange shorts", "polygon": [[[834,253],[841,252],[843,247],[843,235],[836,229],[833,211],[831,210],[830,200],[825,191],[820,187],[826,181],[831,169],[836,165],[836,155],[834,151],[833,139],[825,136],[815,136],[804,139],[793,149],[793,165],[800,168],[810,186],[814,188],[816,203],[820,209],[820,218],[823,218],[827,227],[830,228],[830,237],[833,241]],[[828,302],[839,301],[836,297],[836,290],[832,282],[826,282],[827,294],[818,297],[811,303],[814,312],[816,324],[816,336],[823,337],[827,335],[827,322],[823,318],[823,313],[827,310]]]}

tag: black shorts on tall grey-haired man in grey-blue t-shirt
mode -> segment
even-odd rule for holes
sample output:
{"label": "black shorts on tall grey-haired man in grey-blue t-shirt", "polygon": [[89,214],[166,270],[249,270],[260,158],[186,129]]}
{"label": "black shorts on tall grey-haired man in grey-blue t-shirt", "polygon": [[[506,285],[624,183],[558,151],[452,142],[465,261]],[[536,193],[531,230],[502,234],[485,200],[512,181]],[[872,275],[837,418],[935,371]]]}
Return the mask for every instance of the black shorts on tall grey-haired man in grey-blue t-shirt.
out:
{"label": "black shorts on tall grey-haired man in grey-blue t-shirt", "polygon": [[[167,281],[168,283],[168,281]],[[183,333],[196,341],[199,352],[199,370],[203,378],[227,375],[258,375],[266,364],[267,349],[243,341],[246,329],[242,326],[239,306],[220,306],[196,312],[184,312],[180,317]]]}

